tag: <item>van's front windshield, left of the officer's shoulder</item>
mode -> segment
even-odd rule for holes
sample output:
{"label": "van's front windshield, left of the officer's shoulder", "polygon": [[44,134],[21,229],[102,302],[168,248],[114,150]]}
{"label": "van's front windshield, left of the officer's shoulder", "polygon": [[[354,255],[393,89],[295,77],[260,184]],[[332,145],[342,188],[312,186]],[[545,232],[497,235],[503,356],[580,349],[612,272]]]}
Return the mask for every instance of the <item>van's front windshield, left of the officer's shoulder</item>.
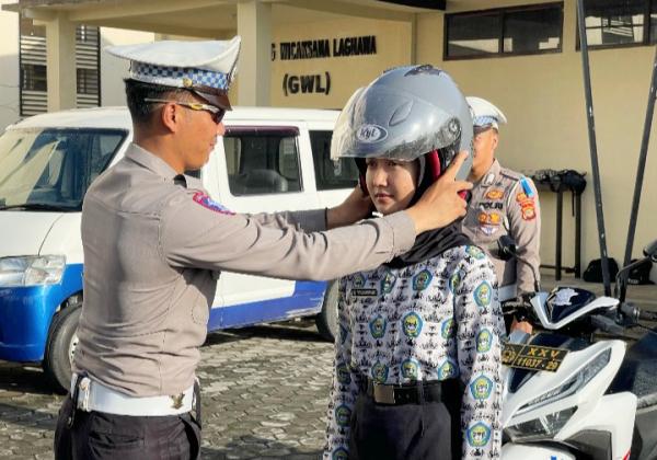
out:
{"label": "van's front windshield, left of the officer's shoulder", "polygon": [[9,129],[0,137],[0,206],[80,210],[126,136],[117,129]]}

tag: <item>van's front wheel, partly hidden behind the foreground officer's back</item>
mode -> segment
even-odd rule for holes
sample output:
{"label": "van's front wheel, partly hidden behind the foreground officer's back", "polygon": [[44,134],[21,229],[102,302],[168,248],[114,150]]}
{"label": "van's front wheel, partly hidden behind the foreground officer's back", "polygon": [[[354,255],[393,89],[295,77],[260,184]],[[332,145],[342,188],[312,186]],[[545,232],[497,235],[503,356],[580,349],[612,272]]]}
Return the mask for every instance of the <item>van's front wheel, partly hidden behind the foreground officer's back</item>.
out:
{"label": "van's front wheel, partly hidden behind the foreground officer's back", "polygon": [[82,313],[82,300],[71,301],[53,320],[43,368],[56,390],[67,392],[71,384],[71,364],[78,346],[78,322]]}

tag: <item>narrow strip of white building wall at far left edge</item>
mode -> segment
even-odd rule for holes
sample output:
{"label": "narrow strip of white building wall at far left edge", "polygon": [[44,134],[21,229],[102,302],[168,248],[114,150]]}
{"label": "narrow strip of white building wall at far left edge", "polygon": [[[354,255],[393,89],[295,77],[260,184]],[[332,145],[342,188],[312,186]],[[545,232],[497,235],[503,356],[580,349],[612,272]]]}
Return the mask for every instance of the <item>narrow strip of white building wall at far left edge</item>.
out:
{"label": "narrow strip of white building wall at far left edge", "polygon": [[[0,0],[13,3],[13,0]],[[19,15],[0,10],[0,131],[19,120]]]}

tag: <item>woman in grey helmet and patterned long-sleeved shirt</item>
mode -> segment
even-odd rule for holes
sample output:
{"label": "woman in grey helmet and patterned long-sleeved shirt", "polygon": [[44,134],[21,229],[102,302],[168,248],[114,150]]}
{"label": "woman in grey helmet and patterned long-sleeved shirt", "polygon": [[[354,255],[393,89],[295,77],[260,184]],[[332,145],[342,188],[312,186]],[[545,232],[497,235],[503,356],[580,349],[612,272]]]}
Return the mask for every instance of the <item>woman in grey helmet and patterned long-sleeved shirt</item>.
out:
{"label": "woman in grey helmet and patterned long-sleeved shirt", "polygon": [[[389,215],[412,206],[471,136],[468,104],[446,72],[400,67],[351,96],[332,156],[355,158],[361,186]],[[459,227],[339,280],[325,459],[499,458],[497,281]]]}

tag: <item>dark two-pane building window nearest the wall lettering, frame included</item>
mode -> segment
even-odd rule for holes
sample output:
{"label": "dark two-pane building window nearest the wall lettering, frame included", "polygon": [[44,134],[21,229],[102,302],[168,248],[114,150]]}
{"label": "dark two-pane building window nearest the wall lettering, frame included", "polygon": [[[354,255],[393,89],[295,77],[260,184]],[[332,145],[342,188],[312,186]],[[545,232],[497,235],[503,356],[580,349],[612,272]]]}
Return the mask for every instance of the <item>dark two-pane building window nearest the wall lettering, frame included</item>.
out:
{"label": "dark two-pane building window nearest the wall lettering, frame included", "polygon": [[445,59],[558,53],[563,16],[563,3],[446,14]]}

